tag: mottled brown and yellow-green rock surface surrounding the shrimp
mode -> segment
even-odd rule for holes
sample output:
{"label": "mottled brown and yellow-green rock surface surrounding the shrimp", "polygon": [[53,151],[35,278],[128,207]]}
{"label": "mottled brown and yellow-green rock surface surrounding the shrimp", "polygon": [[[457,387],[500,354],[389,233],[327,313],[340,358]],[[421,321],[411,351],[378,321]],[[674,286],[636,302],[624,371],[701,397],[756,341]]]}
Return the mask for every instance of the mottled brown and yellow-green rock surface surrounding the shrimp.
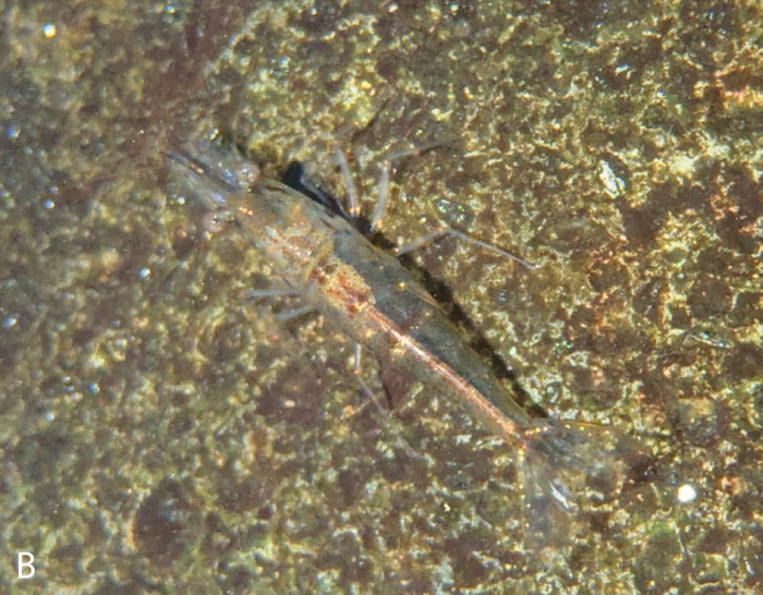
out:
{"label": "mottled brown and yellow-green rock surface surrounding the shrimp", "polygon": [[[763,590],[759,2],[2,13],[0,591]],[[529,545],[513,448],[426,386],[374,406],[350,341],[251,299],[268,263],[161,157],[215,132],[339,196],[340,147],[366,212],[386,155],[439,143],[393,163],[385,236],[532,262],[412,257],[540,410],[649,474]]]}

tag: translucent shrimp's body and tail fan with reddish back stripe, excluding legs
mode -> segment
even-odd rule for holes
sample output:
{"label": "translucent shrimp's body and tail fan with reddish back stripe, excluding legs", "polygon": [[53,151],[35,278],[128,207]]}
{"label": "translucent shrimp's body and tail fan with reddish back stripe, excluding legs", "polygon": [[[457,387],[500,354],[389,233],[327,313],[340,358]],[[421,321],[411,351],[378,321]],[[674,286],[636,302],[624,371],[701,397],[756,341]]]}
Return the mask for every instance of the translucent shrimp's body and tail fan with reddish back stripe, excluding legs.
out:
{"label": "translucent shrimp's body and tail fan with reddish back stripe, excluding legs", "polygon": [[222,214],[305,305],[380,361],[464,404],[521,456],[526,499],[577,509],[577,491],[614,490],[632,447],[613,428],[534,418],[434,298],[334,204],[261,174],[209,141],[167,150],[185,191]]}

